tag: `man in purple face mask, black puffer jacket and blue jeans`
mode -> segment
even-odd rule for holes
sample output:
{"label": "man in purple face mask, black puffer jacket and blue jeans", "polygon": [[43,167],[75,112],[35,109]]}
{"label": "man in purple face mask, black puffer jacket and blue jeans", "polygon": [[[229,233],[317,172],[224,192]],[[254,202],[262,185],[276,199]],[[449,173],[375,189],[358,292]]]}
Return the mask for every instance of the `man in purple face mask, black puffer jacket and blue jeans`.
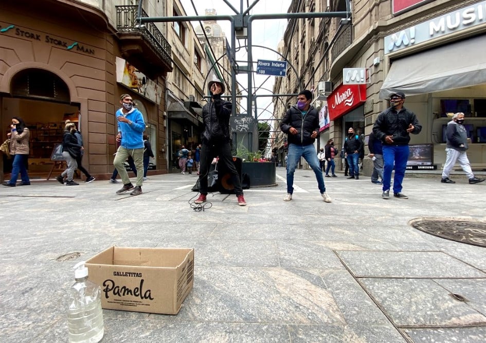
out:
{"label": "man in purple face mask, black puffer jacket and blue jeans", "polygon": [[319,159],[314,148],[314,141],[319,133],[319,114],[311,106],[312,93],[304,89],[297,96],[298,102],[285,113],[280,130],[287,134],[289,152],[287,153],[287,195],[283,201],[291,201],[294,193],[294,172],[300,157],[304,157],[316,174],[320,194],[326,203],[331,197],[326,193],[324,178]]}

